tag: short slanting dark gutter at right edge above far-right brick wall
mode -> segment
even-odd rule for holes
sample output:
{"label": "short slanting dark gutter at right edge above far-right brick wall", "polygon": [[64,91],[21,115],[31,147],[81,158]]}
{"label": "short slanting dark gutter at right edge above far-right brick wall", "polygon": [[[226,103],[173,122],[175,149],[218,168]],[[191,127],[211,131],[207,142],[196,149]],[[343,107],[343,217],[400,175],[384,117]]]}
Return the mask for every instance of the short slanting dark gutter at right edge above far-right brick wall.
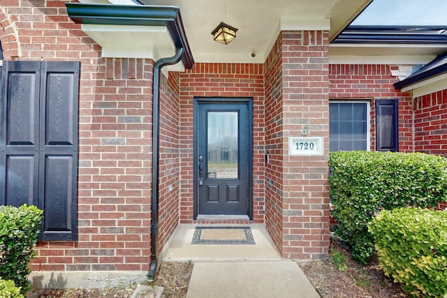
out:
{"label": "short slanting dark gutter at right edge above far-right brick wall", "polygon": [[404,80],[395,82],[393,86],[395,89],[402,89],[444,73],[447,73],[447,53],[439,55],[432,62],[423,66],[422,68],[419,68],[416,72],[412,73]]}

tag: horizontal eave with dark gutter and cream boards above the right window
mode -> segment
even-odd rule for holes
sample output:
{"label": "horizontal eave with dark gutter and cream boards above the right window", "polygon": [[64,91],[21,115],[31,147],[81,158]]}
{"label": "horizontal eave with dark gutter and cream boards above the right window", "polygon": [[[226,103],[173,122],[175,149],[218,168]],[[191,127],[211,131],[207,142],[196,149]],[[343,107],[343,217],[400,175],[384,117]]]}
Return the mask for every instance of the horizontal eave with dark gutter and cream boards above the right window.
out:
{"label": "horizontal eave with dark gutter and cream boards above the right window", "polygon": [[329,57],[331,64],[427,64],[446,48],[446,27],[349,26]]}

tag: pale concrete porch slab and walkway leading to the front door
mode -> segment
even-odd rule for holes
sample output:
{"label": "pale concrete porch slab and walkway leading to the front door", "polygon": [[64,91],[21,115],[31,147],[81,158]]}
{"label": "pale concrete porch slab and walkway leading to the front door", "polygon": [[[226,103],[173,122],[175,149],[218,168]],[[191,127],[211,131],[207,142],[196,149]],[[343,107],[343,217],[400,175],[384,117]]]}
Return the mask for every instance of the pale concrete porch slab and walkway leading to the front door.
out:
{"label": "pale concrete porch slab and walkway leading to the front door", "polygon": [[296,262],[281,259],[265,226],[249,226],[256,245],[193,245],[195,226],[177,228],[163,261],[194,263],[187,297],[320,297]]}

